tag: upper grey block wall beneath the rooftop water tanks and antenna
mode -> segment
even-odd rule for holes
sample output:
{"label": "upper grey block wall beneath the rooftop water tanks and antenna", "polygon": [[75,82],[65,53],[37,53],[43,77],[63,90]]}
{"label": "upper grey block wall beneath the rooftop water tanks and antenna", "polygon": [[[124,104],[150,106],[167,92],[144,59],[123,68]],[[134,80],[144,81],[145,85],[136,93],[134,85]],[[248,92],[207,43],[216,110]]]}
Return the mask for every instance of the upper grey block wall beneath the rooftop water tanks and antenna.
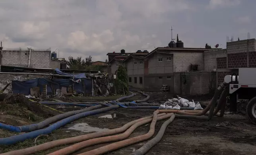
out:
{"label": "upper grey block wall beneath the rooftop water tanks and antenna", "polygon": [[198,64],[198,71],[204,70],[204,53],[175,53],[174,72],[190,71],[190,64]]}

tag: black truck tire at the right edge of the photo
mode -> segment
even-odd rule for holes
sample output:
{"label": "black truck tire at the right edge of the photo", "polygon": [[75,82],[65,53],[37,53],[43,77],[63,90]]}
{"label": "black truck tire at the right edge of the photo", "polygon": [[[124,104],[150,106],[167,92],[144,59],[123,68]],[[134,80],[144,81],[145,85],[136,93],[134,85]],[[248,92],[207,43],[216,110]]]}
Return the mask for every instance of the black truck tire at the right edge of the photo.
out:
{"label": "black truck tire at the right edge of the photo", "polygon": [[256,97],[248,102],[246,106],[246,115],[252,124],[256,125]]}

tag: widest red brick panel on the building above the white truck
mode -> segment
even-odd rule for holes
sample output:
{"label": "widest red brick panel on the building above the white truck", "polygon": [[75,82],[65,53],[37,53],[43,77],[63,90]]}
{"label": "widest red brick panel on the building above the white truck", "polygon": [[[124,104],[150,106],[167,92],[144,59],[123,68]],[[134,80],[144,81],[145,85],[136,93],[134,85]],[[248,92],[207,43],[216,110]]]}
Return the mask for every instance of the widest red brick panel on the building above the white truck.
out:
{"label": "widest red brick panel on the building above the white truck", "polygon": [[247,67],[246,53],[231,53],[227,55],[228,68],[243,68]]}

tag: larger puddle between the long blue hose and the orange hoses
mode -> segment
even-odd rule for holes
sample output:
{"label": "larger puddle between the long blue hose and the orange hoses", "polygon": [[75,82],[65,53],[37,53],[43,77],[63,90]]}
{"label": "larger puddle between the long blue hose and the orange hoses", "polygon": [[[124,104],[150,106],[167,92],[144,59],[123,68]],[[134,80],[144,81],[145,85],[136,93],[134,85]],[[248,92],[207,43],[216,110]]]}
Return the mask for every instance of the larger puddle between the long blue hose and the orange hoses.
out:
{"label": "larger puddle between the long blue hose and the orange hoses", "polygon": [[72,127],[68,128],[69,130],[79,130],[82,132],[101,132],[109,129],[100,129],[97,127],[91,127],[87,123],[77,123],[73,125]]}

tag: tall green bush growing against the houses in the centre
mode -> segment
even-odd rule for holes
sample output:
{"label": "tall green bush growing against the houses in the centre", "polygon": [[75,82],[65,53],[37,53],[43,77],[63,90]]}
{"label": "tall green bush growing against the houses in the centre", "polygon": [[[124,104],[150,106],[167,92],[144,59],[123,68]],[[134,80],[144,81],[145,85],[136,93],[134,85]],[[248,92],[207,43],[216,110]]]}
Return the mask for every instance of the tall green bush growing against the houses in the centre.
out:
{"label": "tall green bush growing against the houses in the centre", "polygon": [[125,94],[128,94],[129,87],[128,87],[127,68],[125,68],[122,65],[118,66],[118,70],[116,74],[117,74],[117,79],[115,79],[116,93],[123,94],[125,92]]}

